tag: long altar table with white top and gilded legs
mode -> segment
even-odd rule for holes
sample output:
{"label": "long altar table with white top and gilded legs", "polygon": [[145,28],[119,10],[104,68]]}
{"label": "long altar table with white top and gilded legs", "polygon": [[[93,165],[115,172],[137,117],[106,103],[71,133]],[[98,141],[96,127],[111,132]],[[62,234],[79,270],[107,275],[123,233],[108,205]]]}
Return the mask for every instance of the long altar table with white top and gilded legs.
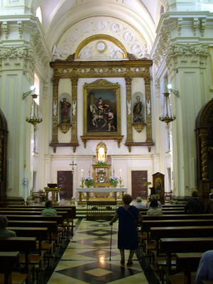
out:
{"label": "long altar table with white top and gilded legs", "polygon": [[[117,192],[121,192],[121,200],[124,196],[124,192],[127,192],[127,187],[83,187],[83,188],[76,188],[75,192],[79,194],[78,196],[78,202],[82,202],[82,195],[84,192],[86,192],[86,200],[89,200],[89,193],[94,193],[94,199],[96,198],[97,192],[107,192],[110,194],[110,192],[114,192],[114,200],[117,200]],[[109,197],[109,195],[108,195]]]}

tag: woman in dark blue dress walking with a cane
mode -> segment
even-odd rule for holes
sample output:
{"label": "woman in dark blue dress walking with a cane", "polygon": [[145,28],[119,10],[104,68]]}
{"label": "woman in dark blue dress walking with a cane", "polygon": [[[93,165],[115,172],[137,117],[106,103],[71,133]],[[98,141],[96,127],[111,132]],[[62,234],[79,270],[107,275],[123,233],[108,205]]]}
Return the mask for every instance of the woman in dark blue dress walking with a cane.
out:
{"label": "woman in dark blue dress walking with a cane", "polygon": [[137,222],[136,217],[142,221],[143,217],[139,210],[130,205],[132,202],[131,195],[124,195],[123,197],[124,205],[118,207],[116,209],[116,214],[111,219],[109,223],[111,226],[117,219],[119,219],[119,233],[118,233],[118,249],[121,253],[121,265],[124,266],[125,258],[124,258],[124,250],[129,250],[129,259],[127,262],[127,266],[131,266],[133,262],[131,259],[133,258],[133,254],[136,249],[138,249],[138,232],[137,232]]}

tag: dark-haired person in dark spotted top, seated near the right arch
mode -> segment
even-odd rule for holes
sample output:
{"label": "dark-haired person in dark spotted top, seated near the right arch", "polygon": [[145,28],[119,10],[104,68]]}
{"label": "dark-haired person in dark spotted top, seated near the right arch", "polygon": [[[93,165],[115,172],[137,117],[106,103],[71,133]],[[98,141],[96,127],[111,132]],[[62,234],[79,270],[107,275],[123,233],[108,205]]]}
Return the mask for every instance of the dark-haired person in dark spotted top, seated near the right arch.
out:
{"label": "dark-haired person in dark spotted top, seated near the right arch", "polygon": [[185,204],[186,214],[202,214],[204,213],[204,203],[198,197],[198,191],[192,190],[192,197]]}

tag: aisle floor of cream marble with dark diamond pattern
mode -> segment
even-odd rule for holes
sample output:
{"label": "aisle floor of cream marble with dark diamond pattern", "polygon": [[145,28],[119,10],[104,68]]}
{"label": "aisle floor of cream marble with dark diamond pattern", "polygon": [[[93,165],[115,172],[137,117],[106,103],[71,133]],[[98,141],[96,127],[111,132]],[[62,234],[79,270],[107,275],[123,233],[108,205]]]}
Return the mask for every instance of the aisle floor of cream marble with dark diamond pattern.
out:
{"label": "aisle floor of cream marble with dark diamond pattern", "polygon": [[[158,279],[148,268],[141,249],[133,256],[133,265],[121,266],[117,249],[118,222],[112,231],[107,221],[76,220],[75,234],[58,262],[48,284],[124,284],[152,283]],[[110,259],[111,239],[111,261]],[[126,251],[126,261],[129,251]]]}

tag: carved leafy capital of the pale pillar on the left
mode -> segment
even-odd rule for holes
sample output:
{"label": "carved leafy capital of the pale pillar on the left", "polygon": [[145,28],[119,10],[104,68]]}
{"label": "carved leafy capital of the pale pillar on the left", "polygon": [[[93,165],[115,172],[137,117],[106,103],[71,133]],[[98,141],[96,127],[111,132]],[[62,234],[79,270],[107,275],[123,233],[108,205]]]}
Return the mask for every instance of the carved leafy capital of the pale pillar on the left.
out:
{"label": "carved leafy capital of the pale pillar on the left", "polygon": [[32,48],[11,47],[0,48],[1,70],[33,71],[35,67],[35,54]]}

